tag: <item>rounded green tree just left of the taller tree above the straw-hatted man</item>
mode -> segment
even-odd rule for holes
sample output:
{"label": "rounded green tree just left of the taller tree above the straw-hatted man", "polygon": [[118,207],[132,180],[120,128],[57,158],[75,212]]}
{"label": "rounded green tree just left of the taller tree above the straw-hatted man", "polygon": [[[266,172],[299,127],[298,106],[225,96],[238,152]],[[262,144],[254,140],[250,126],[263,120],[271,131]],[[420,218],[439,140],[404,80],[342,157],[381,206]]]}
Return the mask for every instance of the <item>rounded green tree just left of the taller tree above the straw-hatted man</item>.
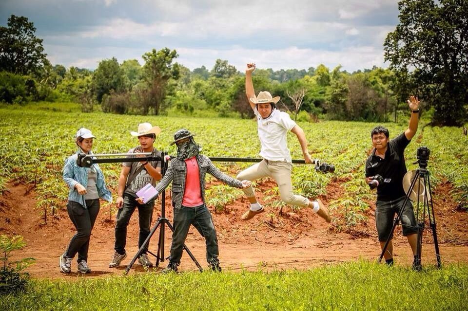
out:
{"label": "rounded green tree just left of the taller tree above the straw-hatted man", "polygon": [[98,69],[93,74],[93,90],[98,102],[102,102],[104,94],[110,94],[125,89],[124,72],[117,62],[117,58],[105,59],[99,62]]}

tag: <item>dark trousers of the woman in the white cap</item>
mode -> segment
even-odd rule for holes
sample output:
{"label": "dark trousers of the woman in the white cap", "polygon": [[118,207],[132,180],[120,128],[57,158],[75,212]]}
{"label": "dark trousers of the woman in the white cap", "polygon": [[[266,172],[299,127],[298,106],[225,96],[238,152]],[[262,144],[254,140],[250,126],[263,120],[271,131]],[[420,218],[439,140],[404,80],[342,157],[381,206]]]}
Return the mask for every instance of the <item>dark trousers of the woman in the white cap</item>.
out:
{"label": "dark trousers of the woman in the white cap", "polygon": [[71,239],[65,256],[73,258],[78,253],[78,263],[81,260],[88,261],[89,238],[98,217],[99,199],[86,200],[86,207],[84,208],[83,205],[75,201],[67,203],[68,216],[77,228],[77,234]]}

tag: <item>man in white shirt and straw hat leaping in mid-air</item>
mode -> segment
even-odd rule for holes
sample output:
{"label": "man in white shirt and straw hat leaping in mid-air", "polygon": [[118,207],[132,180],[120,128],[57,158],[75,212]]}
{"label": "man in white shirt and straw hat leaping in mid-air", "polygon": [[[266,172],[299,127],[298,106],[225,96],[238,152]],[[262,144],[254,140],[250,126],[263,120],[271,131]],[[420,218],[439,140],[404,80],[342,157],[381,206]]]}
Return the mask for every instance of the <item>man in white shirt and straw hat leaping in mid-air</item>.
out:
{"label": "man in white shirt and straw hat leaping in mid-air", "polygon": [[[322,201],[318,199],[309,201],[309,199],[292,192],[292,159],[286,144],[286,136],[289,131],[297,136],[305,162],[312,163],[312,158],[307,150],[306,135],[302,128],[291,120],[289,114],[275,108],[274,104],[279,101],[279,96],[272,97],[267,91],[261,91],[258,96],[255,96],[252,82],[254,70],[255,64],[247,64],[245,92],[257,118],[258,137],[261,144],[260,156],[263,160],[240,172],[237,179],[254,181],[259,178],[271,177],[278,184],[281,200],[295,206],[310,207],[318,216],[330,222],[330,215]],[[264,212],[265,209],[257,202],[252,186],[244,189],[244,193],[251,206],[241,216],[241,219],[250,220],[255,215]]]}

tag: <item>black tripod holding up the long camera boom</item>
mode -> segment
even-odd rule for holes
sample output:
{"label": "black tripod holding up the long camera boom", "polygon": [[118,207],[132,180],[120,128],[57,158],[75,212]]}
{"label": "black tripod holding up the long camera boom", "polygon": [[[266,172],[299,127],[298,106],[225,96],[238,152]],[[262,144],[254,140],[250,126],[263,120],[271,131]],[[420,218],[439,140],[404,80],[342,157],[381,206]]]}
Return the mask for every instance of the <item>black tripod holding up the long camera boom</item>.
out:
{"label": "black tripod holding up the long camera boom", "polygon": [[[167,155],[167,152],[162,152],[161,153],[161,175],[164,176],[167,170],[167,161],[164,160],[165,156]],[[150,243],[150,239],[153,237],[153,235],[156,232],[156,229],[159,227],[159,239],[157,241],[157,252],[156,254],[148,251],[149,254],[153,255],[156,257],[156,267],[159,265],[159,262],[163,262],[166,258],[164,258],[164,238],[165,238],[165,225],[171,229],[172,232],[174,232],[174,227],[172,226],[171,222],[166,218],[166,192],[163,191],[161,193],[161,217],[158,218],[156,221],[155,225],[150,231],[150,234],[146,238],[146,240],[143,242],[143,245],[138,249],[137,253],[135,256],[133,256],[132,260],[128,264],[127,268],[125,268],[125,274],[128,274],[130,269],[132,269],[133,264],[135,261],[137,261],[138,257],[143,253],[143,250],[145,247]],[[184,244],[183,250],[187,252],[189,257],[192,259],[192,261],[195,263],[196,267],[200,272],[203,272],[203,268],[200,266],[198,261],[196,260],[195,256],[192,254],[192,252],[189,250],[189,248]]]}

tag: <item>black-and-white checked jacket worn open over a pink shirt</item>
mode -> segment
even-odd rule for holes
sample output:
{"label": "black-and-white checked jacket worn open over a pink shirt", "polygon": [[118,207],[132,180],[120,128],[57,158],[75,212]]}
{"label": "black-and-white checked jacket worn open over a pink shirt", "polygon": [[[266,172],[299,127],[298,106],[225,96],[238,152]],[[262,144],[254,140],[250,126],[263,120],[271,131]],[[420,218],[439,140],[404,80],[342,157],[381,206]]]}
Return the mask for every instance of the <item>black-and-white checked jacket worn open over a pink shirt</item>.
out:
{"label": "black-and-white checked jacket worn open over a pink shirt", "polygon": [[[213,175],[216,179],[223,183],[227,183],[231,187],[242,188],[242,183],[235,178],[232,178],[219,169],[211,162],[211,160],[204,155],[197,155],[196,161],[198,162],[198,169],[200,171],[200,186],[201,186],[201,198],[203,203],[205,202],[205,176],[206,173]],[[174,158],[171,160],[171,165],[164,174],[164,177],[156,185],[157,193],[161,193],[167,188],[169,183],[172,182],[172,206],[176,209],[182,207],[182,199],[185,192],[185,181],[187,178],[187,165],[185,161]]]}

